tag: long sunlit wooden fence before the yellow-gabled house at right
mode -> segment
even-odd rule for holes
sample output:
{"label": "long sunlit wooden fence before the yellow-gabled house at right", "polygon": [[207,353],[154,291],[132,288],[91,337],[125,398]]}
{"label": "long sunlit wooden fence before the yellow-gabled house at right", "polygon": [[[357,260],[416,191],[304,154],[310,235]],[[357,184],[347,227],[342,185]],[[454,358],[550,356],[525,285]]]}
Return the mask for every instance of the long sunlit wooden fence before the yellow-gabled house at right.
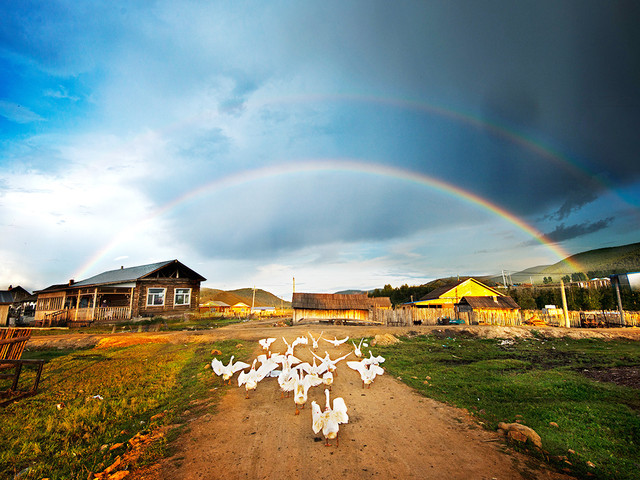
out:
{"label": "long sunlit wooden fence before the yellow-gabled house at right", "polygon": [[[572,328],[582,326],[616,327],[620,324],[620,313],[617,311],[576,312],[569,311],[569,323]],[[522,325],[526,320],[536,317],[549,326],[564,326],[562,315],[549,315],[542,310],[483,311],[456,312],[453,308],[398,308],[396,310],[379,310],[376,320],[389,326],[439,325],[443,319],[460,319],[466,325]],[[595,324],[585,319],[596,321]],[[640,312],[624,312],[626,326],[640,326]],[[444,320],[446,321],[446,320]]]}

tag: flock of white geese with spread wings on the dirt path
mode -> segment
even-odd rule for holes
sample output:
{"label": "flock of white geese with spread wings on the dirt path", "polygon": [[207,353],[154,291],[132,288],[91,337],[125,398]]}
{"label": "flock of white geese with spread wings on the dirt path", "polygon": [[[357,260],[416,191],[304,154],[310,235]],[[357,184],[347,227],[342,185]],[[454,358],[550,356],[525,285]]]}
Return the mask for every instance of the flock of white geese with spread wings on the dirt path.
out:
{"label": "flock of white geese with spread wings on the dirt path", "polygon": [[[311,332],[308,332],[308,337],[297,337],[291,343],[282,337],[286,345],[285,353],[274,353],[271,351],[271,345],[276,341],[276,338],[263,338],[259,340],[258,343],[265,353],[258,355],[251,365],[245,362],[234,362],[234,357],[232,356],[227,365],[223,364],[217,358],[214,358],[211,361],[211,368],[216,375],[221,376],[223,381],[228,382],[229,385],[231,385],[233,375],[240,372],[238,374],[238,386],[244,386],[247,392],[247,398],[249,398],[249,392],[255,390],[262,380],[267,377],[277,377],[278,385],[280,385],[282,391],[282,398],[284,398],[285,395],[289,397],[293,394],[296,415],[300,413],[299,408],[304,408],[304,405],[307,403],[309,389],[324,385],[326,397],[324,410],[321,409],[320,405],[315,401],[311,402],[311,427],[316,434],[322,431],[326,446],[329,446],[329,440],[332,439],[336,440],[336,446],[338,446],[339,426],[340,424],[349,422],[347,405],[344,399],[342,397],[334,398],[333,405],[331,405],[330,402],[330,390],[333,385],[333,377],[336,373],[338,362],[346,359],[351,354],[360,358],[361,360],[348,361],[346,364],[349,368],[360,374],[362,388],[365,386],[370,388],[376,376],[384,373],[384,369],[380,366],[380,364],[384,362],[384,357],[379,355],[374,356],[371,350],[369,350],[369,357],[365,357],[362,353],[362,347],[368,347],[368,344],[364,343],[364,338],[360,340],[358,345],[352,340],[351,343],[354,349],[346,355],[332,359],[329,352],[325,351],[325,356],[320,357],[315,353],[319,348],[320,340],[324,340],[334,347],[339,347],[349,340],[349,337],[338,340],[335,336],[333,340],[331,340],[324,338],[322,333],[324,332],[321,332],[317,338],[314,338]],[[312,364],[303,362],[295,356],[296,347],[309,345],[309,340],[311,340],[309,351],[314,357]],[[259,366],[258,363],[260,364]]]}

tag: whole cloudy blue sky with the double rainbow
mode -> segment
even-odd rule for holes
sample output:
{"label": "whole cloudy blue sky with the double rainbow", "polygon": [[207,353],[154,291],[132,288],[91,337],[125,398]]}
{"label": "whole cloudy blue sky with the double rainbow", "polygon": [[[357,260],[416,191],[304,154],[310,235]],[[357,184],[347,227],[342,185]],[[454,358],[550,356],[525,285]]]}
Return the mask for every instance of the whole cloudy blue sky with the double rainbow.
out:
{"label": "whole cloudy blue sky with the double rainbow", "polygon": [[633,0],[0,0],[0,289],[296,291],[640,241]]}

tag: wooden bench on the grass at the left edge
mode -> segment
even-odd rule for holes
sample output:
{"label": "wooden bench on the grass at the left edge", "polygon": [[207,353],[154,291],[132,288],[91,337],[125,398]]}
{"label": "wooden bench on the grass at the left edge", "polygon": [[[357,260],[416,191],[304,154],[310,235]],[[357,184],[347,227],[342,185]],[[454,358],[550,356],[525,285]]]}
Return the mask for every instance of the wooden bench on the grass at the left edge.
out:
{"label": "wooden bench on the grass at the left edge", "polygon": [[[21,358],[29,338],[31,338],[30,328],[7,328],[0,330],[0,379],[12,379],[9,388],[0,391],[0,406],[8,405],[23,397],[35,395],[38,391],[44,360],[27,360]],[[33,384],[28,390],[19,389],[20,373],[22,373],[22,367],[24,366],[35,367],[36,369]],[[13,372],[10,372],[11,370],[13,370]],[[10,373],[5,373],[6,371]]]}

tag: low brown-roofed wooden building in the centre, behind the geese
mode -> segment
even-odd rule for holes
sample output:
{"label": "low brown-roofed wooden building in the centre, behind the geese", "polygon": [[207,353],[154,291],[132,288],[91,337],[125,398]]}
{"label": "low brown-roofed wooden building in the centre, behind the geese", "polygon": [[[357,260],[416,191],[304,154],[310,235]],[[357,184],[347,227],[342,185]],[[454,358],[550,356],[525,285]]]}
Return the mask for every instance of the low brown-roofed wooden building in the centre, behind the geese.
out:
{"label": "low brown-roofed wooden building in the centre, behind the geese", "polygon": [[293,323],[379,323],[376,311],[391,308],[388,297],[369,298],[366,293],[294,293]]}

